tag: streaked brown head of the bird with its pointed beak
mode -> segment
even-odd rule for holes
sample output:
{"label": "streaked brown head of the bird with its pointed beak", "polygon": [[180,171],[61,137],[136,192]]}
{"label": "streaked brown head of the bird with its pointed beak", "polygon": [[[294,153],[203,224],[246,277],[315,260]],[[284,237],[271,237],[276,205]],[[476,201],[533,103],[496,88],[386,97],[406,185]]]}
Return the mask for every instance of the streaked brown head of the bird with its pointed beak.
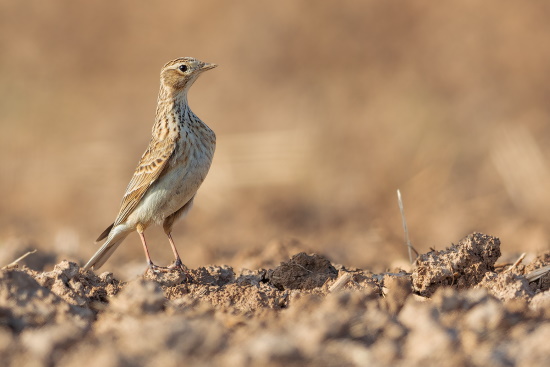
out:
{"label": "streaked brown head of the bird with its pointed beak", "polygon": [[160,71],[161,86],[171,93],[186,92],[203,71],[216,66],[192,57],[177,58],[164,65]]}

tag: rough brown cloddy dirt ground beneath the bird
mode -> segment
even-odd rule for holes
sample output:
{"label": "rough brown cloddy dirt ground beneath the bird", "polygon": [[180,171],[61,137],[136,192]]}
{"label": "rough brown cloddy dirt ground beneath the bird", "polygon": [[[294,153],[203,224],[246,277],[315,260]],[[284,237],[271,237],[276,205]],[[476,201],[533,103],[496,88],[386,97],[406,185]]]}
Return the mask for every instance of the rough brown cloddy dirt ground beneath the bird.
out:
{"label": "rough brown cloddy dirt ground beneath the bird", "polygon": [[[250,263],[287,250],[274,243]],[[69,261],[5,267],[0,355],[6,366],[548,366],[550,253],[499,257],[498,238],[473,233],[410,272],[304,252],[129,282]]]}

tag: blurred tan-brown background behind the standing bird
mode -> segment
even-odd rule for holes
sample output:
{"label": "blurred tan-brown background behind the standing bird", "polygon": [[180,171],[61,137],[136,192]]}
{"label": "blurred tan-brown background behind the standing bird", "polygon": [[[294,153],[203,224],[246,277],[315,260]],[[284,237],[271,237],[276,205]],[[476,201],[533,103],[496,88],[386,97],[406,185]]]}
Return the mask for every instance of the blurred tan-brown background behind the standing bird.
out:
{"label": "blurred tan-brown background behind the standing bird", "polygon": [[[497,0],[1,0],[0,259],[95,252],[180,56],[219,64],[189,96],[218,147],[175,226],[188,266],[406,263],[397,189],[421,252],[472,231],[510,258],[548,250],[548,19],[550,3]],[[131,235],[104,269],[144,268]]]}

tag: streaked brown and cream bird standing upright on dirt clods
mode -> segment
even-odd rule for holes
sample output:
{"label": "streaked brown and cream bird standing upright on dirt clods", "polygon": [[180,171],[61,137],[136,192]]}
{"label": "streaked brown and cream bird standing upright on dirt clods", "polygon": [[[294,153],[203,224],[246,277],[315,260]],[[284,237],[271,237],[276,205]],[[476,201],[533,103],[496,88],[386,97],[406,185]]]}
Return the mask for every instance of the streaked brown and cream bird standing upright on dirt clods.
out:
{"label": "streaked brown and cream bird standing upright on dirt clods", "polygon": [[[96,240],[105,242],[84,270],[99,269],[133,231],[139,234],[151,270],[184,270],[172,238],[172,226],[192,208],[216,149],[216,134],[191,111],[187,94],[199,75],[216,66],[193,57],[180,57],[161,69],[151,140],[128,184],[115,221]],[[145,230],[155,224],[162,224],[174,253],[174,263],[166,268],[153,263],[145,240]]]}

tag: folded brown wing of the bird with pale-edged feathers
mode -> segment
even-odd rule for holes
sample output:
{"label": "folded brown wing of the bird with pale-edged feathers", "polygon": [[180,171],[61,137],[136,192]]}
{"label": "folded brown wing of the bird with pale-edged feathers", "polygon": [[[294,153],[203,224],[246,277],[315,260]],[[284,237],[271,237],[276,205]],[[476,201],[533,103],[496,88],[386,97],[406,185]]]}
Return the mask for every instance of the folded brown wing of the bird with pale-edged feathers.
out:
{"label": "folded brown wing of the bird with pale-edged feathers", "polygon": [[141,156],[132,180],[126,188],[122,204],[114,226],[128,219],[128,216],[139,204],[147,189],[159,178],[166,167],[170,156],[176,148],[175,139],[151,139],[147,150]]}

